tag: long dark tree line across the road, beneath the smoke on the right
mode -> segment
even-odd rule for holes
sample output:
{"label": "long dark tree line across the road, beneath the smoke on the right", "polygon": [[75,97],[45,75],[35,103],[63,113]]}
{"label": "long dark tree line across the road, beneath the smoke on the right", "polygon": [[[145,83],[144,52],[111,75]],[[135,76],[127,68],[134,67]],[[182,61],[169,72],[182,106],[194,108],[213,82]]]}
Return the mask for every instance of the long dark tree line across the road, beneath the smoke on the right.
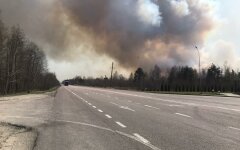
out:
{"label": "long dark tree line across the road, beneath the smoke on the right", "polygon": [[111,80],[107,77],[85,78],[77,76],[69,80],[70,84],[97,87],[116,87],[147,91],[174,92],[240,92],[240,72],[230,67],[220,68],[212,64],[201,73],[189,66],[174,66],[161,70],[155,65],[151,71],[145,72],[137,68],[129,78],[116,71]]}

